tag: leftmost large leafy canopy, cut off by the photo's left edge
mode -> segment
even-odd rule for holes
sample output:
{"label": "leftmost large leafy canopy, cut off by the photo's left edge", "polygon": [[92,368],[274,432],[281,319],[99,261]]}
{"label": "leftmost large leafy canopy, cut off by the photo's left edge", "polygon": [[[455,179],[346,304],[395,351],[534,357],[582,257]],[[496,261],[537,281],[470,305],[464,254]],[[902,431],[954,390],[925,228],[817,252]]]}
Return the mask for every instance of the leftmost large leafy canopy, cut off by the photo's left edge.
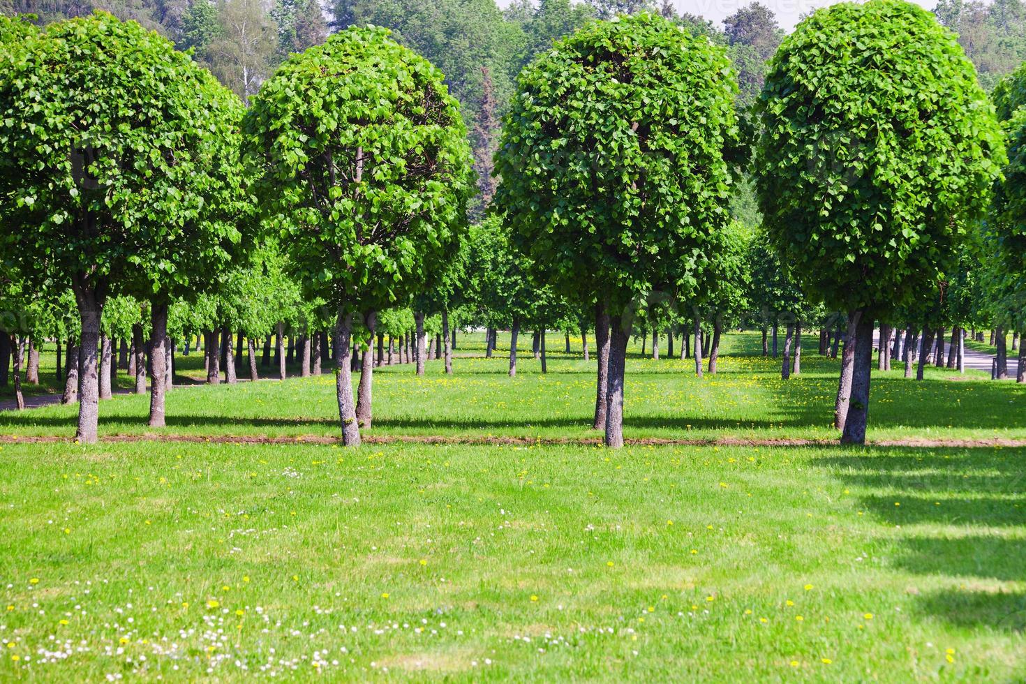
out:
{"label": "leftmost large leafy canopy, cut off by the photo's left edge", "polygon": [[167,39],[106,12],[23,33],[0,43],[3,237],[23,261],[146,294],[227,260],[241,103]]}

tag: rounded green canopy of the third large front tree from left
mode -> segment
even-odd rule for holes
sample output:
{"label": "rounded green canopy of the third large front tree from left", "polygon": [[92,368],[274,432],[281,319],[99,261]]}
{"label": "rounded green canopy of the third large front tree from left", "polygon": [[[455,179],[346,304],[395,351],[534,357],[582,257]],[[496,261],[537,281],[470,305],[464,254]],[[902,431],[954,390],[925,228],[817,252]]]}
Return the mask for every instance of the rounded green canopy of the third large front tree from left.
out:
{"label": "rounded green canopy of the third large front tree from left", "polygon": [[496,201],[548,277],[619,310],[704,261],[728,220],[723,48],[650,13],[593,22],[521,73]]}

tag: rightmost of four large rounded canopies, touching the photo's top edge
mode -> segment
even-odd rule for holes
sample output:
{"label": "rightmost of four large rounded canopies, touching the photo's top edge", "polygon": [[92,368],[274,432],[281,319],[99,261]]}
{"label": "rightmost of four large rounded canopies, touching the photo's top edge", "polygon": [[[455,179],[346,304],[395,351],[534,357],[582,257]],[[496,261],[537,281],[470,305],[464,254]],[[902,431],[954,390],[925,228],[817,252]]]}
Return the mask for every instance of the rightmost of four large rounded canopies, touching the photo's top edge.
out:
{"label": "rightmost of four large rounded canopies, touching the photo's top edge", "polygon": [[802,286],[838,309],[885,313],[936,282],[1004,161],[954,34],[903,0],[799,24],[755,109],[765,226]]}

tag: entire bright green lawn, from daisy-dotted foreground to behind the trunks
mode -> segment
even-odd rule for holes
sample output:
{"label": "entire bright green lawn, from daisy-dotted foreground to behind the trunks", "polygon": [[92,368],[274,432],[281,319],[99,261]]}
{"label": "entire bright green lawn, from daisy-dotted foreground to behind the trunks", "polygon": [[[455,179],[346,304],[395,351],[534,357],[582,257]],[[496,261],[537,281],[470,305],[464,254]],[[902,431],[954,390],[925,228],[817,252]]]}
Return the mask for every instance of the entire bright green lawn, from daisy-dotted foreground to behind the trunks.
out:
{"label": "entire bright green lawn, from daisy-dotted foreground to behind the trunks", "polygon": [[[784,384],[755,341],[701,380],[632,359],[625,435],[834,438],[836,362]],[[380,369],[373,434],[596,437],[592,364],[552,356]],[[900,375],[870,439],[1026,437],[1022,387]],[[149,432],[145,399],[101,434]],[[164,433],[333,410],[330,376],[183,388]],[[1026,448],[10,441],[73,417],[0,413],[2,681],[1026,677]]]}

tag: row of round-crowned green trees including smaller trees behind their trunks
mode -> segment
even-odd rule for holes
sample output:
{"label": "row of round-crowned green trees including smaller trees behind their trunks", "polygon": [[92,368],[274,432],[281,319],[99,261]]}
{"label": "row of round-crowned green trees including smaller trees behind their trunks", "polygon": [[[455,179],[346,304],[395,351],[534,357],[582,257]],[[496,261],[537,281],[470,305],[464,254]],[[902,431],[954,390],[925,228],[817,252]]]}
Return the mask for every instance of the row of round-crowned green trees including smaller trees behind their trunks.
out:
{"label": "row of round-crowned green trees including smaller trees behind their trunks", "polygon": [[[771,61],[751,116],[739,108],[731,45],[707,30],[649,12],[585,25],[520,72],[494,211],[473,231],[475,160],[459,103],[384,29],[350,28],[289,56],[244,110],[133,23],[100,13],[42,32],[19,19],[0,27],[6,290],[74,294],[83,441],[95,439],[104,338],[118,338],[104,311],[115,300],[148,317],[148,344],[143,321],[131,326],[135,350],[149,350],[136,369],[155,378],[154,426],[164,423],[176,305],[202,318],[211,379],[219,346],[231,378],[235,332],[248,339],[253,375],[255,340],[271,330],[283,359],[289,306],[304,358],[315,344],[326,350],[330,327],[347,444],[371,424],[379,317],[396,307],[412,313],[421,372],[431,314],[450,368],[460,308],[514,337],[521,326],[585,331],[590,312],[595,425],[610,446],[623,443],[624,360],[637,328],[688,321],[701,373],[704,321],[714,371],[725,324],[754,308],[765,330],[783,314],[786,377],[800,367],[791,349],[802,321],[822,319],[824,304],[844,312],[838,425],[860,442],[874,320],[916,321],[945,308],[949,289],[970,299],[977,273],[1016,312],[1014,183],[986,213],[1005,163],[1001,129],[954,36],[906,3],[803,22]],[[1012,178],[1018,78],[995,90]],[[752,128],[764,231],[732,217],[734,188],[750,186]],[[959,255],[979,256],[971,234],[1002,257],[959,270]],[[965,282],[951,285],[958,274]],[[937,326],[923,327],[925,349]],[[361,350],[354,400],[350,359]]]}

